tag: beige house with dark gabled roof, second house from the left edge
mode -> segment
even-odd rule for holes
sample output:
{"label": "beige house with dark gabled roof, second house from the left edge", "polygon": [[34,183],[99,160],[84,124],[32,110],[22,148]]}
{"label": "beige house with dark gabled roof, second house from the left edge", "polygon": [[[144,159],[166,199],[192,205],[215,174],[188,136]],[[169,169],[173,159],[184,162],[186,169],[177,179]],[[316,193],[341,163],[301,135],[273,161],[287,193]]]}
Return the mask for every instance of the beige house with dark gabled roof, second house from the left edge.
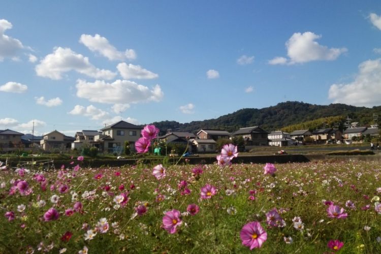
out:
{"label": "beige house with dark gabled roof, second house from the left edge", "polygon": [[66,136],[57,130],[52,131],[42,136],[40,140],[41,148],[45,151],[69,150],[72,147],[72,142],[75,140],[73,137]]}

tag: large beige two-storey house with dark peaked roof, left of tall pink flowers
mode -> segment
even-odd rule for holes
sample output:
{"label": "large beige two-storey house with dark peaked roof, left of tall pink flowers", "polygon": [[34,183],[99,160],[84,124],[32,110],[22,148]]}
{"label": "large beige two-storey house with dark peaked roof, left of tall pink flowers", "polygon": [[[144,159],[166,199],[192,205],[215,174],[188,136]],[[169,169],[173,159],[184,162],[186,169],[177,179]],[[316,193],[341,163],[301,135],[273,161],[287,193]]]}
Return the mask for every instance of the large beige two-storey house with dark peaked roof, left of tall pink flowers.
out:
{"label": "large beige two-storey house with dark peaked roof, left of tall pink flowers", "polygon": [[130,142],[130,149],[135,151],[135,142],[140,138],[143,128],[120,120],[101,129],[101,134],[94,136],[94,146],[104,152],[121,152],[125,141]]}

